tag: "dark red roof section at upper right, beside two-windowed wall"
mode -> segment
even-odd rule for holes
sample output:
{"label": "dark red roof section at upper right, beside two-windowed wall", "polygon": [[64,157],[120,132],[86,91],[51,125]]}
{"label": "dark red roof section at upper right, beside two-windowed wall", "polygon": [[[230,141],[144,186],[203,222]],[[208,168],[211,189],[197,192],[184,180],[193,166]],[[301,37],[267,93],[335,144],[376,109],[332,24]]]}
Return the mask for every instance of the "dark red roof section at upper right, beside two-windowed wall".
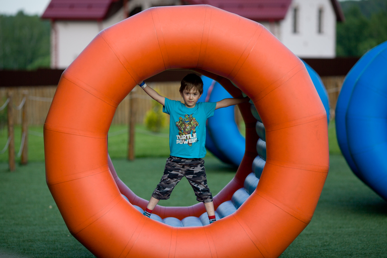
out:
{"label": "dark red roof section at upper right, beside two-windowed wall", "polygon": [[[254,21],[278,21],[285,18],[292,0],[186,0],[192,5],[211,5]],[[336,20],[344,21],[337,0],[331,0]]]}

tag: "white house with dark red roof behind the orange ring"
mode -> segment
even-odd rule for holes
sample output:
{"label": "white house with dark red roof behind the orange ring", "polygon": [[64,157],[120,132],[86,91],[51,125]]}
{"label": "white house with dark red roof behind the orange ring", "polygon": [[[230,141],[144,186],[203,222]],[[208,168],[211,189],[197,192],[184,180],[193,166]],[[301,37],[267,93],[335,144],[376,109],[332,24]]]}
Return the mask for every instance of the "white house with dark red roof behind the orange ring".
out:
{"label": "white house with dark red roof behind the orange ring", "polygon": [[101,30],[156,6],[207,4],[264,25],[301,58],[334,58],[337,0],[51,0],[51,67],[66,68]]}

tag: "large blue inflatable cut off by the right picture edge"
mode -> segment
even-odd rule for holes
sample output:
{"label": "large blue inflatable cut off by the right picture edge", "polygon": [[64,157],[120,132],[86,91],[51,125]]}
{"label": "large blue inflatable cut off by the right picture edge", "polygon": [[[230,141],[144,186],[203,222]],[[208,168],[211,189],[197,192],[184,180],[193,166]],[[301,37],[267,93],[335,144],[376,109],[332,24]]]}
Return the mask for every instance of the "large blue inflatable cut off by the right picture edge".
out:
{"label": "large blue inflatable cut off by the right picture edge", "polygon": [[336,134],[353,173],[387,200],[387,42],[349,71],[336,104]]}

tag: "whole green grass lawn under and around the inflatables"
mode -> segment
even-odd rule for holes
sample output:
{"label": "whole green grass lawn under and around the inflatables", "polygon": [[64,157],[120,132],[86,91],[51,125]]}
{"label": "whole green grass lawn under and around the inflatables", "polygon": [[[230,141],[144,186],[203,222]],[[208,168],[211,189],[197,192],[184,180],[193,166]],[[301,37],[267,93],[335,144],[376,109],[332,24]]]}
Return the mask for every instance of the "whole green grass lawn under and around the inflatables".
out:
{"label": "whole green grass lawn under and around the inflatables", "polygon": [[[136,129],[136,160],[126,160],[125,126],[111,128],[109,152],[123,182],[138,196],[148,199],[169,154],[168,136],[167,131],[155,135],[142,126]],[[31,127],[30,131],[28,165],[18,164],[11,173],[6,153],[0,155],[0,257],[93,257],[68,232],[47,188],[43,138],[39,136],[43,129]],[[340,155],[332,123],[328,131],[330,172],[316,212],[281,257],[386,257],[387,203],[350,171]],[[0,133],[0,145],[5,144],[4,138]],[[17,139],[15,145],[18,148]],[[212,155],[206,157],[206,170],[214,194],[235,174],[234,168]],[[195,203],[185,179],[169,200],[160,202],[164,206]]]}

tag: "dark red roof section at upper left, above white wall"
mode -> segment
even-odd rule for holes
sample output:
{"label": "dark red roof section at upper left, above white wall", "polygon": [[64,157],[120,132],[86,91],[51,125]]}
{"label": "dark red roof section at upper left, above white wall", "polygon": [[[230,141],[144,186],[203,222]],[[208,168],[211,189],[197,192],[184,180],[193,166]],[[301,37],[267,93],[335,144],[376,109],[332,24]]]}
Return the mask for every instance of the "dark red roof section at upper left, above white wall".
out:
{"label": "dark red roof section at upper left, above white wall", "polygon": [[[119,0],[51,0],[43,19],[104,20]],[[122,7],[122,3],[120,5]]]}

